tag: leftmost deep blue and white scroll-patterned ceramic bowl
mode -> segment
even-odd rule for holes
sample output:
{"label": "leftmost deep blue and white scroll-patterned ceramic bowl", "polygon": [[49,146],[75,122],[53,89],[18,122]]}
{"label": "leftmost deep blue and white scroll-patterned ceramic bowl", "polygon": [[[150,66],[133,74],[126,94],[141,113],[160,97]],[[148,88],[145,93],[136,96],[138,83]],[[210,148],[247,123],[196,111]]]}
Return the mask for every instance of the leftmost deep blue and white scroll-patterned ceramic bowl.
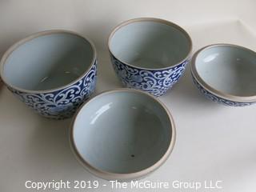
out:
{"label": "leftmost deep blue and white scroll-patterned ceramic bowl", "polygon": [[66,30],[22,39],[1,60],[8,89],[47,118],[70,118],[94,92],[96,71],[93,43]]}

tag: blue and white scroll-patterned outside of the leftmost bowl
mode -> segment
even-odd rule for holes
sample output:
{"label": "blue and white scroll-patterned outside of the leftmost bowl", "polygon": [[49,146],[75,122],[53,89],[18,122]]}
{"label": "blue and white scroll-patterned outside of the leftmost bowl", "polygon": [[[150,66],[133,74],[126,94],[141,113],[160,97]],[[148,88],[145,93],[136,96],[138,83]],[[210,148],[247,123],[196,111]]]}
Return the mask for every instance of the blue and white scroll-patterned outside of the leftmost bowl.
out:
{"label": "blue and white scroll-patterned outside of the leftmost bowl", "polygon": [[97,78],[97,61],[90,71],[78,82],[62,90],[43,94],[28,94],[22,91],[8,89],[27,106],[46,118],[70,118],[95,90]]}

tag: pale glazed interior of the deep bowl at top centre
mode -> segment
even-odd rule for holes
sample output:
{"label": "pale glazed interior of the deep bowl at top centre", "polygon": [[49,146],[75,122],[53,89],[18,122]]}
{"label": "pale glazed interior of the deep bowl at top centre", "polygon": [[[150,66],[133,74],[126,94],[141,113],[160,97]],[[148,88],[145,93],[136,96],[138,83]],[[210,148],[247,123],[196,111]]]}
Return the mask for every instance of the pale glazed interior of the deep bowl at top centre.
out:
{"label": "pale glazed interior of the deep bowl at top centre", "polygon": [[122,62],[160,69],[174,66],[187,58],[191,40],[186,31],[170,22],[138,19],[114,30],[110,35],[109,48]]}

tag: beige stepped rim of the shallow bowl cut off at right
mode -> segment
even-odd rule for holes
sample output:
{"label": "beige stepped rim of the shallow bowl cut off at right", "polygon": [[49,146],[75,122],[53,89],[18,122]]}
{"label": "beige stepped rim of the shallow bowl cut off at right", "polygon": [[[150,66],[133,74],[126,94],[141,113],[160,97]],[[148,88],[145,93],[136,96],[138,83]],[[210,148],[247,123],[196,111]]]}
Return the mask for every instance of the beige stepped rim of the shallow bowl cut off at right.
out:
{"label": "beige stepped rim of the shallow bowl cut off at right", "polygon": [[230,43],[216,43],[216,44],[211,44],[208,46],[204,46],[201,49],[199,49],[194,56],[191,59],[191,73],[194,76],[194,78],[196,79],[197,82],[200,83],[200,85],[208,90],[211,94],[215,94],[217,95],[219,98],[225,98],[226,100],[230,100],[233,102],[256,102],[256,95],[253,96],[238,96],[238,95],[234,95],[234,94],[227,94],[221,90],[217,90],[215,89],[213,86],[210,86],[208,83],[206,83],[203,78],[200,76],[200,74],[198,73],[197,67],[196,67],[196,59],[198,58],[198,54],[202,53],[202,51],[204,50],[208,50],[210,48],[213,47],[220,47],[220,46],[226,46],[226,47],[236,47],[240,50],[246,50],[247,52],[251,52],[253,54],[255,54],[256,56],[256,52],[254,52],[253,50],[250,50],[244,46],[238,46],[238,45],[234,45],[234,44],[230,44]]}

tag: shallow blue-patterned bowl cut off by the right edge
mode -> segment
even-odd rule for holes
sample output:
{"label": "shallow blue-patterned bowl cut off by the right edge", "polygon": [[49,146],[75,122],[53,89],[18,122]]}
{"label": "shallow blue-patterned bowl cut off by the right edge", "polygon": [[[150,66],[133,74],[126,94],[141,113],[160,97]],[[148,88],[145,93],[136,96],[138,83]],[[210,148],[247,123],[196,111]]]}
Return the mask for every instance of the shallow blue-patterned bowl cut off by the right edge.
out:
{"label": "shallow blue-patterned bowl cut off by the right edge", "polygon": [[216,44],[198,50],[191,62],[195,85],[214,102],[248,106],[256,102],[256,53]]}

